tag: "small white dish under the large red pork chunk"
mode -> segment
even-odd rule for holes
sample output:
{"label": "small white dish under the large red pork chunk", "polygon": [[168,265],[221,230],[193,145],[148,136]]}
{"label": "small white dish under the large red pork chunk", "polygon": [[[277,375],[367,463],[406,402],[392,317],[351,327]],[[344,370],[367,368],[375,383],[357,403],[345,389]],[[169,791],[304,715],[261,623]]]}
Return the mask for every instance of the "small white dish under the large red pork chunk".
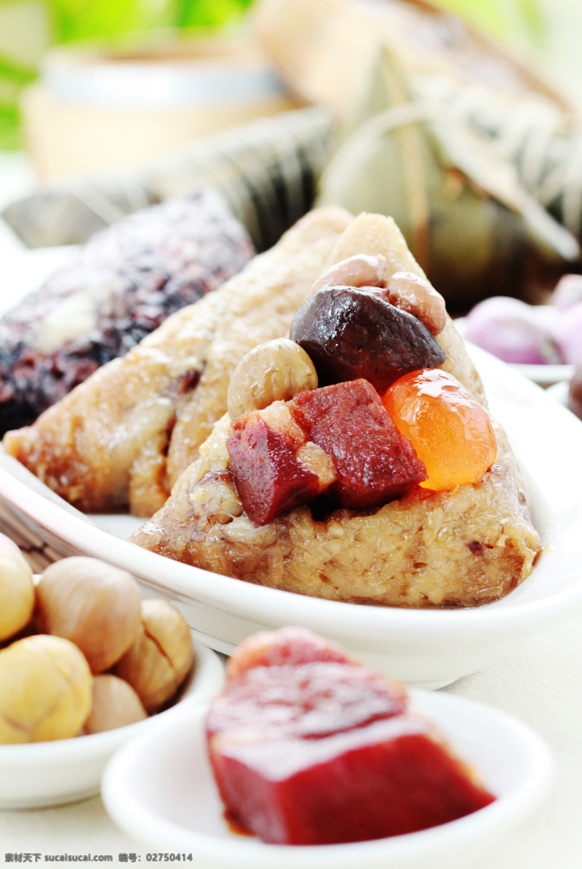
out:
{"label": "small white dish under the large red pork chunk", "polygon": [[466,869],[539,806],[552,778],[552,760],[539,736],[507,713],[450,694],[417,689],[411,695],[498,798],[493,804],[391,839],[265,845],[231,833],[222,817],[200,708],[161,722],[124,746],[103,776],[103,802],[116,824],[143,846],[191,853],[199,869]]}

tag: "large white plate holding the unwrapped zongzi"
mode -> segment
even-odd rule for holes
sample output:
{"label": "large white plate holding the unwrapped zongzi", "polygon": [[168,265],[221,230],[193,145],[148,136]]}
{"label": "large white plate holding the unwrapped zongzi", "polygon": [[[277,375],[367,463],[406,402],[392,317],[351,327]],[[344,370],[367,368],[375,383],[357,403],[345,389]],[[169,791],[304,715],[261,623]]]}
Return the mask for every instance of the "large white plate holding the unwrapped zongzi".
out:
{"label": "large white plate holding the unwrapped zongzi", "polygon": [[525,582],[484,607],[366,607],[211,574],[123,540],[140,520],[89,518],[5,454],[0,454],[0,497],[57,552],[105,558],[155,594],[175,600],[197,638],[220,652],[231,652],[255,631],[298,624],[340,642],[396,679],[440,687],[511,654],[535,631],[582,609],[582,423],[505,363],[467,347],[492,413],[512,442],[531,496],[532,519],[547,547]]}

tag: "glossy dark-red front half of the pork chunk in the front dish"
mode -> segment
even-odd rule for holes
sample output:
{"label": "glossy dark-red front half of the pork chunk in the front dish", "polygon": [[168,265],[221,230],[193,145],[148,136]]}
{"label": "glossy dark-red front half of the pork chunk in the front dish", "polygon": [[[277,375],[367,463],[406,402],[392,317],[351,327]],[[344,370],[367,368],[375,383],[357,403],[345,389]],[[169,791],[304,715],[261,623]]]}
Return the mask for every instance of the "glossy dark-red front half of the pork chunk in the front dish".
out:
{"label": "glossy dark-red front half of the pork chunk in the front dish", "polygon": [[211,758],[229,813],[279,845],[413,833],[493,802],[412,715],[321,740],[215,737]]}

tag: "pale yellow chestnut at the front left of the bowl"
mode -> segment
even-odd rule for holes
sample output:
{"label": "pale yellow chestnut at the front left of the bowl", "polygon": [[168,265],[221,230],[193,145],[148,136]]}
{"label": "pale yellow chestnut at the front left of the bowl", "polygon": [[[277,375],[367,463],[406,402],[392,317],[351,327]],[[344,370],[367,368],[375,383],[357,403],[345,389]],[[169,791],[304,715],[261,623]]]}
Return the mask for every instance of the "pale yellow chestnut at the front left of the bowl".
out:
{"label": "pale yellow chestnut at the front left of the bowl", "polygon": [[91,708],[89,664],[69,640],[37,634],[0,652],[0,743],[76,736]]}

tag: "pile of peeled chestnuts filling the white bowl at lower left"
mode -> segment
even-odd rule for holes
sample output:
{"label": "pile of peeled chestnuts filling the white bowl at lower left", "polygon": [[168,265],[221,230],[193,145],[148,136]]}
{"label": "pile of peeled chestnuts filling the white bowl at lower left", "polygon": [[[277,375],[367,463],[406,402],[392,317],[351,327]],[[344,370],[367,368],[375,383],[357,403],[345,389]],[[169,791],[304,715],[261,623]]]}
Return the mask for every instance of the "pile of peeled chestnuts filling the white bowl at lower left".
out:
{"label": "pile of peeled chestnuts filling the white bowl at lower left", "polygon": [[142,601],[130,574],[92,558],[36,579],[0,535],[0,744],[100,733],[171,700],[194,663],[175,607]]}

